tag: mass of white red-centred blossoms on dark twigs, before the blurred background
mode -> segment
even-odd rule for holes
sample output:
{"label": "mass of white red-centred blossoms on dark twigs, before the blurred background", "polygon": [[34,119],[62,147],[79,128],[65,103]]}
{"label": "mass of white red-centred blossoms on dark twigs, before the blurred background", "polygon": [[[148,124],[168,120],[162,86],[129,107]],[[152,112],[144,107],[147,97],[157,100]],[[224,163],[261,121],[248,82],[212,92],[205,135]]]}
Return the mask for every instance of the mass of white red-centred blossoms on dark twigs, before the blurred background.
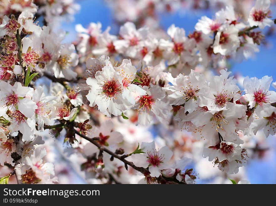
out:
{"label": "mass of white red-centred blossoms on dark twigs, before the blurred background", "polygon": [[3,178],[62,182],[57,151],[88,183],[190,184],[202,156],[236,174],[252,141],[276,133],[272,77],[226,69],[259,52],[253,29],[272,26],[269,6],[257,0],[242,20],[227,5],[187,36],[174,24],[165,33],[126,22],[118,35],[78,24],[70,44],[55,28],[79,9],[72,0],[1,4],[0,165],[14,168]]}

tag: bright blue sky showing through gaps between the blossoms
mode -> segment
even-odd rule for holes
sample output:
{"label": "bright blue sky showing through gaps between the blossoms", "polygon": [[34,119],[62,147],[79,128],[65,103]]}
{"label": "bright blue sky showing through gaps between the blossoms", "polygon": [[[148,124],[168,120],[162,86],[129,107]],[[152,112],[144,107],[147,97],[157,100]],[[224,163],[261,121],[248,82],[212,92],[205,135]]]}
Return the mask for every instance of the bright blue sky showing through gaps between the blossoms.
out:
{"label": "bright blue sky showing through gaps between the blossoms", "polygon": [[[75,25],[82,24],[84,27],[90,22],[101,22],[102,30],[111,26],[111,33],[116,34],[118,27],[114,24],[112,19],[112,11],[106,6],[104,1],[101,0],[81,0],[78,1],[81,5],[81,11],[75,15],[74,22],[68,22],[62,24],[62,29],[69,32],[66,37],[66,42],[72,41],[76,37]],[[272,8],[275,11],[275,8]],[[272,14],[275,12],[272,12]],[[212,17],[215,12],[204,11],[204,12],[187,12],[174,14],[162,14],[159,15],[160,25],[162,28],[167,30],[171,24],[182,27],[186,31],[186,35],[189,32],[193,32],[194,25],[198,19],[206,15]],[[275,16],[274,16],[275,18]],[[276,54],[276,35],[269,37],[267,40],[269,46],[261,46],[260,52],[256,54],[254,59],[249,59],[241,63],[232,64],[231,71],[234,73],[240,73],[243,76],[258,77],[261,78],[265,75],[272,76],[273,82],[276,81],[276,65],[275,65],[275,54]],[[275,137],[269,137],[269,144],[272,145],[273,153],[266,160],[251,160],[247,166],[247,175],[252,183],[276,183],[276,144]]]}

